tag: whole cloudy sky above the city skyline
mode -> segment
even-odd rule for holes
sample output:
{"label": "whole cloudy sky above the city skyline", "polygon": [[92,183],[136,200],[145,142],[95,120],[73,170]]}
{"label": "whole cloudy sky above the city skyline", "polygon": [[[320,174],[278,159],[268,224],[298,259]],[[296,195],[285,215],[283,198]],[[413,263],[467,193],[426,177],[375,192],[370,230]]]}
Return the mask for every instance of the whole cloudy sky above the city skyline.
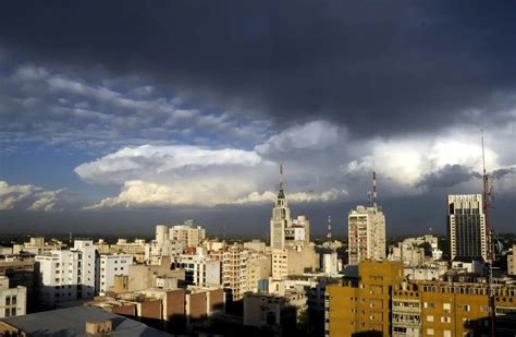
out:
{"label": "whole cloudy sky above the city skyline", "polygon": [[371,172],[388,236],[481,193],[514,232],[514,1],[5,1],[0,232],[151,234],[195,218],[347,233]]}

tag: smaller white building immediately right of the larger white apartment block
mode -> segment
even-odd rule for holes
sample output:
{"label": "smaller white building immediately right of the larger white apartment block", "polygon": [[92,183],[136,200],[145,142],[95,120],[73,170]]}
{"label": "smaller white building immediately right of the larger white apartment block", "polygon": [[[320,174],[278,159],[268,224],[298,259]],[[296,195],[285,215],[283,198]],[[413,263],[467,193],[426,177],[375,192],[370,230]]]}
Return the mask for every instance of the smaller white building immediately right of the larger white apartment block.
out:
{"label": "smaller white building immediately right of the larger white apartment block", "polygon": [[110,290],[115,275],[128,275],[128,266],[133,264],[131,254],[100,254],[97,289],[101,293]]}

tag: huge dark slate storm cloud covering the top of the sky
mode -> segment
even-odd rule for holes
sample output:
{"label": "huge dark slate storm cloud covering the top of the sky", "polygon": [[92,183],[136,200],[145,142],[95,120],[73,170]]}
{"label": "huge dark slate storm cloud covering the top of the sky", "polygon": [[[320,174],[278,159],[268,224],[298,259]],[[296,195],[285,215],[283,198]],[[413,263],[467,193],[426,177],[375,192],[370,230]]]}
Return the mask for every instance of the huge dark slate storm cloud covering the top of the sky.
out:
{"label": "huge dark slate storm cloud covering the top of the sky", "polygon": [[514,17],[514,1],[11,1],[0,44],[367,135],[504,121]]}

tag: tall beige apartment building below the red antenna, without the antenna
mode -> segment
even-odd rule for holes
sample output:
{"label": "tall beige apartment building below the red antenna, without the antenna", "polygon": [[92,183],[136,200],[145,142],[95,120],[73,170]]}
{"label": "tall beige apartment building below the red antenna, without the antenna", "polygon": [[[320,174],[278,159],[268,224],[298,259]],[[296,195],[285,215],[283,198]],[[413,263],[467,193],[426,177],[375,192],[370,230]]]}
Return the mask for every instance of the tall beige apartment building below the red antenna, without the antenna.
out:
{"label": "tall beige apartment building below the red antenna, without the antenna", "polygon": [[357,206],[349,212],[349,264],[385,258],[385,216],[378,206]]}

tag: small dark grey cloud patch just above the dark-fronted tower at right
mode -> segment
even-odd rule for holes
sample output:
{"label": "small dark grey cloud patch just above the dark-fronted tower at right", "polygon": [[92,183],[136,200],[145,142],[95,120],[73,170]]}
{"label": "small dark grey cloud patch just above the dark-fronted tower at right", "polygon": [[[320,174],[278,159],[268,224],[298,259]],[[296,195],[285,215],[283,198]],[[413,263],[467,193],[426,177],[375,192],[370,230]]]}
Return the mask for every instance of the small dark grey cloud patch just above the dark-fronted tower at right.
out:
{"label": "small dark grey cloud patch just above the dark-fronted tower at right", "polygon": [[463,165],[445,165],[442,169],[426,174],[418,183],[418,188],[452,188],[469,181],[471,178],[481,178],[471,168]]}

